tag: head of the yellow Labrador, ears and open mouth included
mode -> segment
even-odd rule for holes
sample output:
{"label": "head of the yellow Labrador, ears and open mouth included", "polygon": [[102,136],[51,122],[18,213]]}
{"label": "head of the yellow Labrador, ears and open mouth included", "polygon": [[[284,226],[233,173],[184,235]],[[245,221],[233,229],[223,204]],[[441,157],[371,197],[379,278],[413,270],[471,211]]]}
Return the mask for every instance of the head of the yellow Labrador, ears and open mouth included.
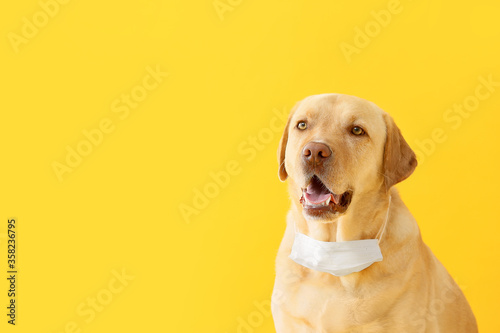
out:
{"label": "head of the yellow Labrador, ears and open mouth included", "polygon": [[279,178],[306,219],[333,221],[352,201],[387,192],[417,166],[392,118],[358,97],[324,94],[297,103],[278,149]]}

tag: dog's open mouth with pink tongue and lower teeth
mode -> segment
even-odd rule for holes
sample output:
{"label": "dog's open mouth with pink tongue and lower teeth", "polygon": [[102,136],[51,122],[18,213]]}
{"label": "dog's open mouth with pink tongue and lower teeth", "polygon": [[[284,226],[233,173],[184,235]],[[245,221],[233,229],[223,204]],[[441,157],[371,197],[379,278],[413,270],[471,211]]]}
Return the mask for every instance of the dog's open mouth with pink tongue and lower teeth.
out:
{"label": "dog's open mouth with pink tongue and lower teeth", "polygon": [[319,216],[325,212],[343,213],[351,203],[352,192],[342,194],[331,192],[325,184],[314,175],[309,185],[302,189],[300,203],[310,215]]}

